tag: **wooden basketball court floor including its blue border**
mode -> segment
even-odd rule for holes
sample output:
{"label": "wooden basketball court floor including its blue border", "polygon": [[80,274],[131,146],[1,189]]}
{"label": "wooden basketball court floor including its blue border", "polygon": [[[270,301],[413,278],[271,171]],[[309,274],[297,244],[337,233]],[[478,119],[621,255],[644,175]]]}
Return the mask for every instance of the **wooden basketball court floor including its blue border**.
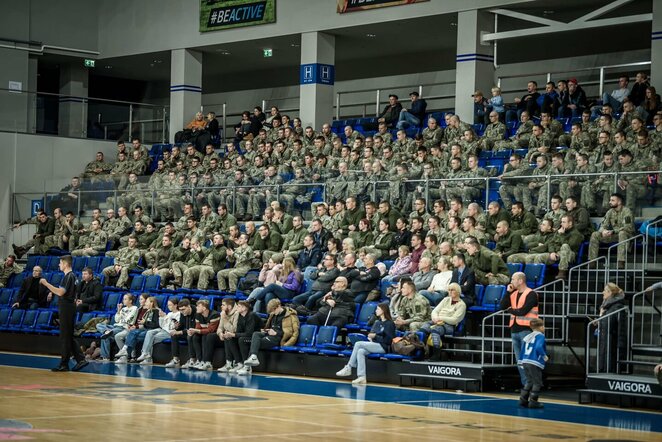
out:
{"label": "wooden basketball court floor including its blue border", "polygon": [[662,413],[0,353],[0,440],[662,441]]}

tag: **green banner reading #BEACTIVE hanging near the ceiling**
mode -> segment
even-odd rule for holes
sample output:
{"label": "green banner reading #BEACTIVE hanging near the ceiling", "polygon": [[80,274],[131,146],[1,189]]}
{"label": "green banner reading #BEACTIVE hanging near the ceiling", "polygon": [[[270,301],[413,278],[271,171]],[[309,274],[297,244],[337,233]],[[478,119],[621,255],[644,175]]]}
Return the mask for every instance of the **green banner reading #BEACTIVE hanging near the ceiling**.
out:
{"label": "green banner reading #BEACTIVE hanging near the ceiling", "polygon": [[276,0],[200,0],[200,32],[276,21]]}

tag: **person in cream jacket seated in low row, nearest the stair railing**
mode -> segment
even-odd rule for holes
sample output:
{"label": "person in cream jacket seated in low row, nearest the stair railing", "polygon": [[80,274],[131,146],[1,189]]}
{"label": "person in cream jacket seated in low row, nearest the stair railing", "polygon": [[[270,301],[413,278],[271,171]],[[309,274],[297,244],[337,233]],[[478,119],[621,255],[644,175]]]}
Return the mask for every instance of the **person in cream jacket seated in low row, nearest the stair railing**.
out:
{"label": "person in cream jacket seated in low row, nearest the stair railing", "polygon": [[467,305],[460,298],[460,285],[452,283],[448,286],[448,295],[432,310],[431,320],[421,326],[421,330],[430,335],[433,354],[432,359],[441,356],[441,338],[453,336],[455,327],[464,320]]}

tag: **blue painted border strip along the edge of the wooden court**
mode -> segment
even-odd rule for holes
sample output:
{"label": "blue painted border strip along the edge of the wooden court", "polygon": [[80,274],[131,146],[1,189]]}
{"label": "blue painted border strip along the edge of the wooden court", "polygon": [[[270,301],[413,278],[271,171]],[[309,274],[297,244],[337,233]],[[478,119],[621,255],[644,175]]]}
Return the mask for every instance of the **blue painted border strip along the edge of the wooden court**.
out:
{"label": "blue painted border strip along the edge of the wooden court", "polygon": [[[0,365],[50,369],[57,358],[0,353]],[[324,398],[342,398],[377,403],[401,404],[414,407],[432,407],[454,411],[487,413],[491,415],[541,419],[553,422],[597,425],[603,427],[635,431],[662,432],[662,413],[632,411],[616,408],[603,408],[578,404],[564,404],[542,401],[545,408],[530,410],[520,408],[514,398],[499,398],[478,394],[441,392],[423,389],[398,388],[381,385],[352,386],[349,382],[333,382],[317,379],[291,378],[269,375],[219,374],[216,371],[194,371],[166,369],[162,366],[140,366],[136,364],[115,365],[90,363],[81,373],[68,373],[66,376],[85,376],[84,373],[146,378],[161,381],[187,382],[242,389],[302,394]],[[370,413],[365,413],[369,415]]]}

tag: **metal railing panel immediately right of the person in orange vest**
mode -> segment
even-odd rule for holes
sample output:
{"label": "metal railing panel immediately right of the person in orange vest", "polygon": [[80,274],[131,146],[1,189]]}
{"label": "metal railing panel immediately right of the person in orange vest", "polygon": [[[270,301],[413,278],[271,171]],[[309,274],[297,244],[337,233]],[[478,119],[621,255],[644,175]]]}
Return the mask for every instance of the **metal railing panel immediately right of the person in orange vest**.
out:
{"label": "metal railing panel immediately right of the person in orange vest", "polygon": [[540,319],[545,321],[545,337],[548,342],[565,342],[566,338],[566,287],[557,279],[535,289],[538,294]]}

